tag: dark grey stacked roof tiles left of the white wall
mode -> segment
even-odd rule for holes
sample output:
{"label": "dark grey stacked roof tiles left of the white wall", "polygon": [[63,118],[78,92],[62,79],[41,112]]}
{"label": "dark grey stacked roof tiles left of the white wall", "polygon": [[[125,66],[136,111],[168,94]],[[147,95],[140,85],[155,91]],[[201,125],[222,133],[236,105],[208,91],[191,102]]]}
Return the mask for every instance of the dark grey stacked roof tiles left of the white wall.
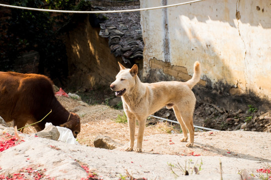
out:
{"label": "dark grey stacked roof tiles left of the white wall", "polygon": [[[102,9],[119,10],[134,8],[139,8],[139,6],[110,6]],[[111,53],[115,56],[121,56],[125,63],[134,63],[134,59],[141,59],[143,57],[144,44],[140,26],[140,12],[105,13],[103,16],[106,18],[99,23],[99,35],[108,38]]]}

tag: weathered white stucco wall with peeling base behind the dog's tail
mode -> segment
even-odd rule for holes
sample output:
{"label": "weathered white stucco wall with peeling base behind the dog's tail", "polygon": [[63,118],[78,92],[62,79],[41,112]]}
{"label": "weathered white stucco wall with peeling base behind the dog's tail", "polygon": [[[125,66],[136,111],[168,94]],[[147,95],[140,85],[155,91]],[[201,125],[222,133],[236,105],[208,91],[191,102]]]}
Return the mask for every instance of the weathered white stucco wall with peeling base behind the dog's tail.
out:
{"label": "weathered white stucco wall with peeling base behind the dog's tail", "polygon": [[[185,0],[140,0],[141,8]],[[239,16],[237,19],[237,16]],[[201,62],[201,79],[252,91],[271,100],[271,5],[269,0],[204,0],[141,11],[143,75],[150,60],[184,66]],[[234,92],[236,93],[236,92]]]}

